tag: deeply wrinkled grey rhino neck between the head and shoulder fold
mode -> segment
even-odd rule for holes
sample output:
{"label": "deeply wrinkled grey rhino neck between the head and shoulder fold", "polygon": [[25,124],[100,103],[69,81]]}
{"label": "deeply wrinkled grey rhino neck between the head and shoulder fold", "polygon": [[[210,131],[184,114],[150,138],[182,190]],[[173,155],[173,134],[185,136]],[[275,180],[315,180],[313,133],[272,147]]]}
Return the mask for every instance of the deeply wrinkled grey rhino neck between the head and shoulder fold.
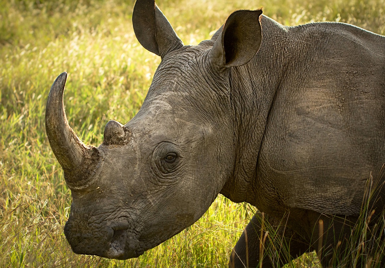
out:
{"label": "deeply wrinkled grey rhino neck between the head and shoulder fold", "polygon": [[[221,194],[234,202],[258,204],[255,189],[259,148],[280,79],[285,71],[287,28],[263,16],[263,40],[256,56],[230,70],[231,103],[235,114],[234,173]],[[272,145],[273,146],[273,145]]]}

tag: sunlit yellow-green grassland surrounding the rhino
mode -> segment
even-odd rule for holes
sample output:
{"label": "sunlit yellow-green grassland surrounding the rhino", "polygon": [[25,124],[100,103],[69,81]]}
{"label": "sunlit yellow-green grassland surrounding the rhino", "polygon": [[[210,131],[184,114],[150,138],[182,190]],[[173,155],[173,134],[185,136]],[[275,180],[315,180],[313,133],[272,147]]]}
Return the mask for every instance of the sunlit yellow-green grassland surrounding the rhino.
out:
{"label": "sunlit yellow-green grassland surrounding the rhino", "polygon": [[[385,33],[384,0],[159,0],[185,44],[210,38],[239,8],[264,7],[285,25],[340,21]],[[160,58],[137,42],[134,2],[0,1],[0,267],[226,267],[250,209],[219,196],[201,220],[134,260],[72,253],[63,226],[70,191],[44,128],[54,79],[68,72],[69,123],[86,143],[102,142],[110,119],[141,107]],[[314,255],[294,267],[318,267]]]}

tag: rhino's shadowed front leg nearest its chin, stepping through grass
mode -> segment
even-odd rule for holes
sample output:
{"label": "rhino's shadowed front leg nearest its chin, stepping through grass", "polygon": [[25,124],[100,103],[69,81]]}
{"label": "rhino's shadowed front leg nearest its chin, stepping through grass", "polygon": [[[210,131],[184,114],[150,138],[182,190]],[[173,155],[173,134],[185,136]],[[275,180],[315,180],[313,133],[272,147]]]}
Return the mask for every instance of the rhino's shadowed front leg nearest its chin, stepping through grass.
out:
{"label": "rhino's shadowed front leg nearest its chin, stepping through grass", "polygon": [[[282,223],[267,215],[263,216],[262,213],[254,215],[234,246],[229,267],[259,268],[259,262],[262,260],[263,268],[273,268],[285,265],[303,253],[310,252],[309,244],[284,225],[285,222]],[[262,258],[260,253],[263,254]]]}

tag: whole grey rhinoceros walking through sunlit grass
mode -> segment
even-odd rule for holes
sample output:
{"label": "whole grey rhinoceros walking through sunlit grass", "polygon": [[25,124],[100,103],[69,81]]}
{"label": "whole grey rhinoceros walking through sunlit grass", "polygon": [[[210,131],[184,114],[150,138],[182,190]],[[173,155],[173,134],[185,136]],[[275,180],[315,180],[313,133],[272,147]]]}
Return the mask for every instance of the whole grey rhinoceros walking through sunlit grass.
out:
{"label": "whole grey rhinoceros walking through sunlit grass", "polygon": [[[345,23],[286,27],[261,10],[237,10],[211,40],[185,46],[154,0],[137,0],[132,21],[161,63],[128,123],[109,121],[103,143],[86,146],[64,112],[67,73],[47,100],[47,136],[72,194],[64,233],[75,253],[138,257],[192,225],[221,193],[259,211],[230,266],[273,267],[317,250],[326,267],[330,252],[346,247],[367,185],[372,222],[382,213],[384,36]],[[288,247],[275,247],[275,261],[259,256],[268,224]]]}

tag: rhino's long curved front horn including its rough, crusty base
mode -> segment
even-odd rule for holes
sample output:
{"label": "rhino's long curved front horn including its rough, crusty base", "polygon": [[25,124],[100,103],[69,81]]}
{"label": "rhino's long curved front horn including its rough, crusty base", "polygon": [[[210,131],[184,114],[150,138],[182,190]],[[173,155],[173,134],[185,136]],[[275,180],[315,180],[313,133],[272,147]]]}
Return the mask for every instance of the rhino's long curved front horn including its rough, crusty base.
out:
{"label": "rhino's long curved front horn including its rough, crusty base", "polygon": [[[63,103],[66,80],[67,73],[64,72],[56,78],[50,89],[45,110],[45,130],[52,151],[63,167],[66,180],[69,180],[67,183],[72,181],[79,186],[80,181],[89,180],[84,175],[91,175],[96,166],[99,166],[96,163],[91,171],[90,162],[95,162],[100,157],[97,148],[85,146],[68,125]],[[82,178],[76,174],[81,174]]]}

